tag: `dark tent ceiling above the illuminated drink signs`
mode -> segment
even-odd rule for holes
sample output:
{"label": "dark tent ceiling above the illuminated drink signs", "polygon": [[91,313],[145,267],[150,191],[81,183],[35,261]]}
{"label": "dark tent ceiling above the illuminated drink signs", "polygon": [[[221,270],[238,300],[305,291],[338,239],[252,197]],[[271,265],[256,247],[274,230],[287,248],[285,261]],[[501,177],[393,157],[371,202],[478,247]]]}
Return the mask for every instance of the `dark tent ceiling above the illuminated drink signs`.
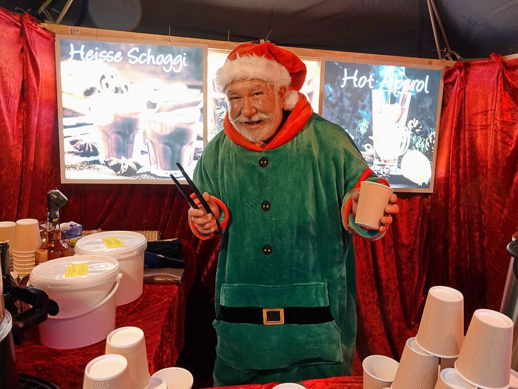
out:
{"label": "dark tent ceiling above the illuminated drink signs", "polygon": [[[51,6],[61,10],[66,0]],[[436,0],[464,58],[518,52],[518,0]],[[34,0],[0,0],[14,10]],[[54,17],[57,13],[50,11]],[[426,0],[74,0],[62,24],[437,58]],[[444,45],[441,45],[443,47]]]}

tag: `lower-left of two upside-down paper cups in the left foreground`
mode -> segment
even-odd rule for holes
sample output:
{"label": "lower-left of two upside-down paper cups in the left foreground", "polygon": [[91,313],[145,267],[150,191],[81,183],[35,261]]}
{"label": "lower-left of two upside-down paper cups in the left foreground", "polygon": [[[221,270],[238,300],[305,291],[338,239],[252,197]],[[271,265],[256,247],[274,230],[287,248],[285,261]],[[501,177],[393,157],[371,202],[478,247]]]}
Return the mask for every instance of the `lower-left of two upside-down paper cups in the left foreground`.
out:
{"label": "lower-left of two upside-down paper cups in the left foreground", "polygon": [[84,369],[83,389],[121,389],[131,387],[127,360],[122,355],[102,355]]}

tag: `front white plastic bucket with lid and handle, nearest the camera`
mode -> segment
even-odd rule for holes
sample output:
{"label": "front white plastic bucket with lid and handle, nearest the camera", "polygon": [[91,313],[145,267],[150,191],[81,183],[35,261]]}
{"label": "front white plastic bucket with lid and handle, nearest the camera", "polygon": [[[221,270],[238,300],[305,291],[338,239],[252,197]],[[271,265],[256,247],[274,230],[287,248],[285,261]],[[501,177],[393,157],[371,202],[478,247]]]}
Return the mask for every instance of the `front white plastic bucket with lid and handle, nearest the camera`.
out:
{"label": "front white plastic bucket with lid and handle, nearest the camera", "polygon": [[[67,274],[67,269],[80,265],[78,275]],[[102,256],[63,257],[36,266],[30,284],[44,290],[60,308],[56,316],[39,325],[41,344],[65,350],[106,339],[115,328],[115,295],[121,276],[117,260]]]}

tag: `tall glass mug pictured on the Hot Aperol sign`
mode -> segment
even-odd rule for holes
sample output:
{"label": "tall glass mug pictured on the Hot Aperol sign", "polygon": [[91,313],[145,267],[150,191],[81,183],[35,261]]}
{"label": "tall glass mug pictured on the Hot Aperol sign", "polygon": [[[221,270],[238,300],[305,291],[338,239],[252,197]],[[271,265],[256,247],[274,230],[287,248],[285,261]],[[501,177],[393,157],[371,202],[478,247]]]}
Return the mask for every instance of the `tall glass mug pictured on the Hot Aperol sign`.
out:
{"label": "tall glass mug pictured on the Hot Aperol sign", "polygon": [[410,144],[406,128],[412,92],[372,90],[373,169],[377,173],[398,174],[398,158]]}

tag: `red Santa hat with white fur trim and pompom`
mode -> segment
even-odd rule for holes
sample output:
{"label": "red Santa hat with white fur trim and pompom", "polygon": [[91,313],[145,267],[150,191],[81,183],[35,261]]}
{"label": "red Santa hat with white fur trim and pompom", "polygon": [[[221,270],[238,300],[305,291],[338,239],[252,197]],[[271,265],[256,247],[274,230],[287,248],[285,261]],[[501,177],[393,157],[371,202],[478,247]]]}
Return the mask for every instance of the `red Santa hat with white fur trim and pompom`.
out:
{"label": "red Santa hat with white fur trim and pompom", "polygon": [[298,102],[298,91],[304,85],[306,65],[291,51],[269,42],[245,43],[237,46],[216,73],[215,87],[224,92],[237,80],[259,79],[275,87],[286,87],[285,110]]}

